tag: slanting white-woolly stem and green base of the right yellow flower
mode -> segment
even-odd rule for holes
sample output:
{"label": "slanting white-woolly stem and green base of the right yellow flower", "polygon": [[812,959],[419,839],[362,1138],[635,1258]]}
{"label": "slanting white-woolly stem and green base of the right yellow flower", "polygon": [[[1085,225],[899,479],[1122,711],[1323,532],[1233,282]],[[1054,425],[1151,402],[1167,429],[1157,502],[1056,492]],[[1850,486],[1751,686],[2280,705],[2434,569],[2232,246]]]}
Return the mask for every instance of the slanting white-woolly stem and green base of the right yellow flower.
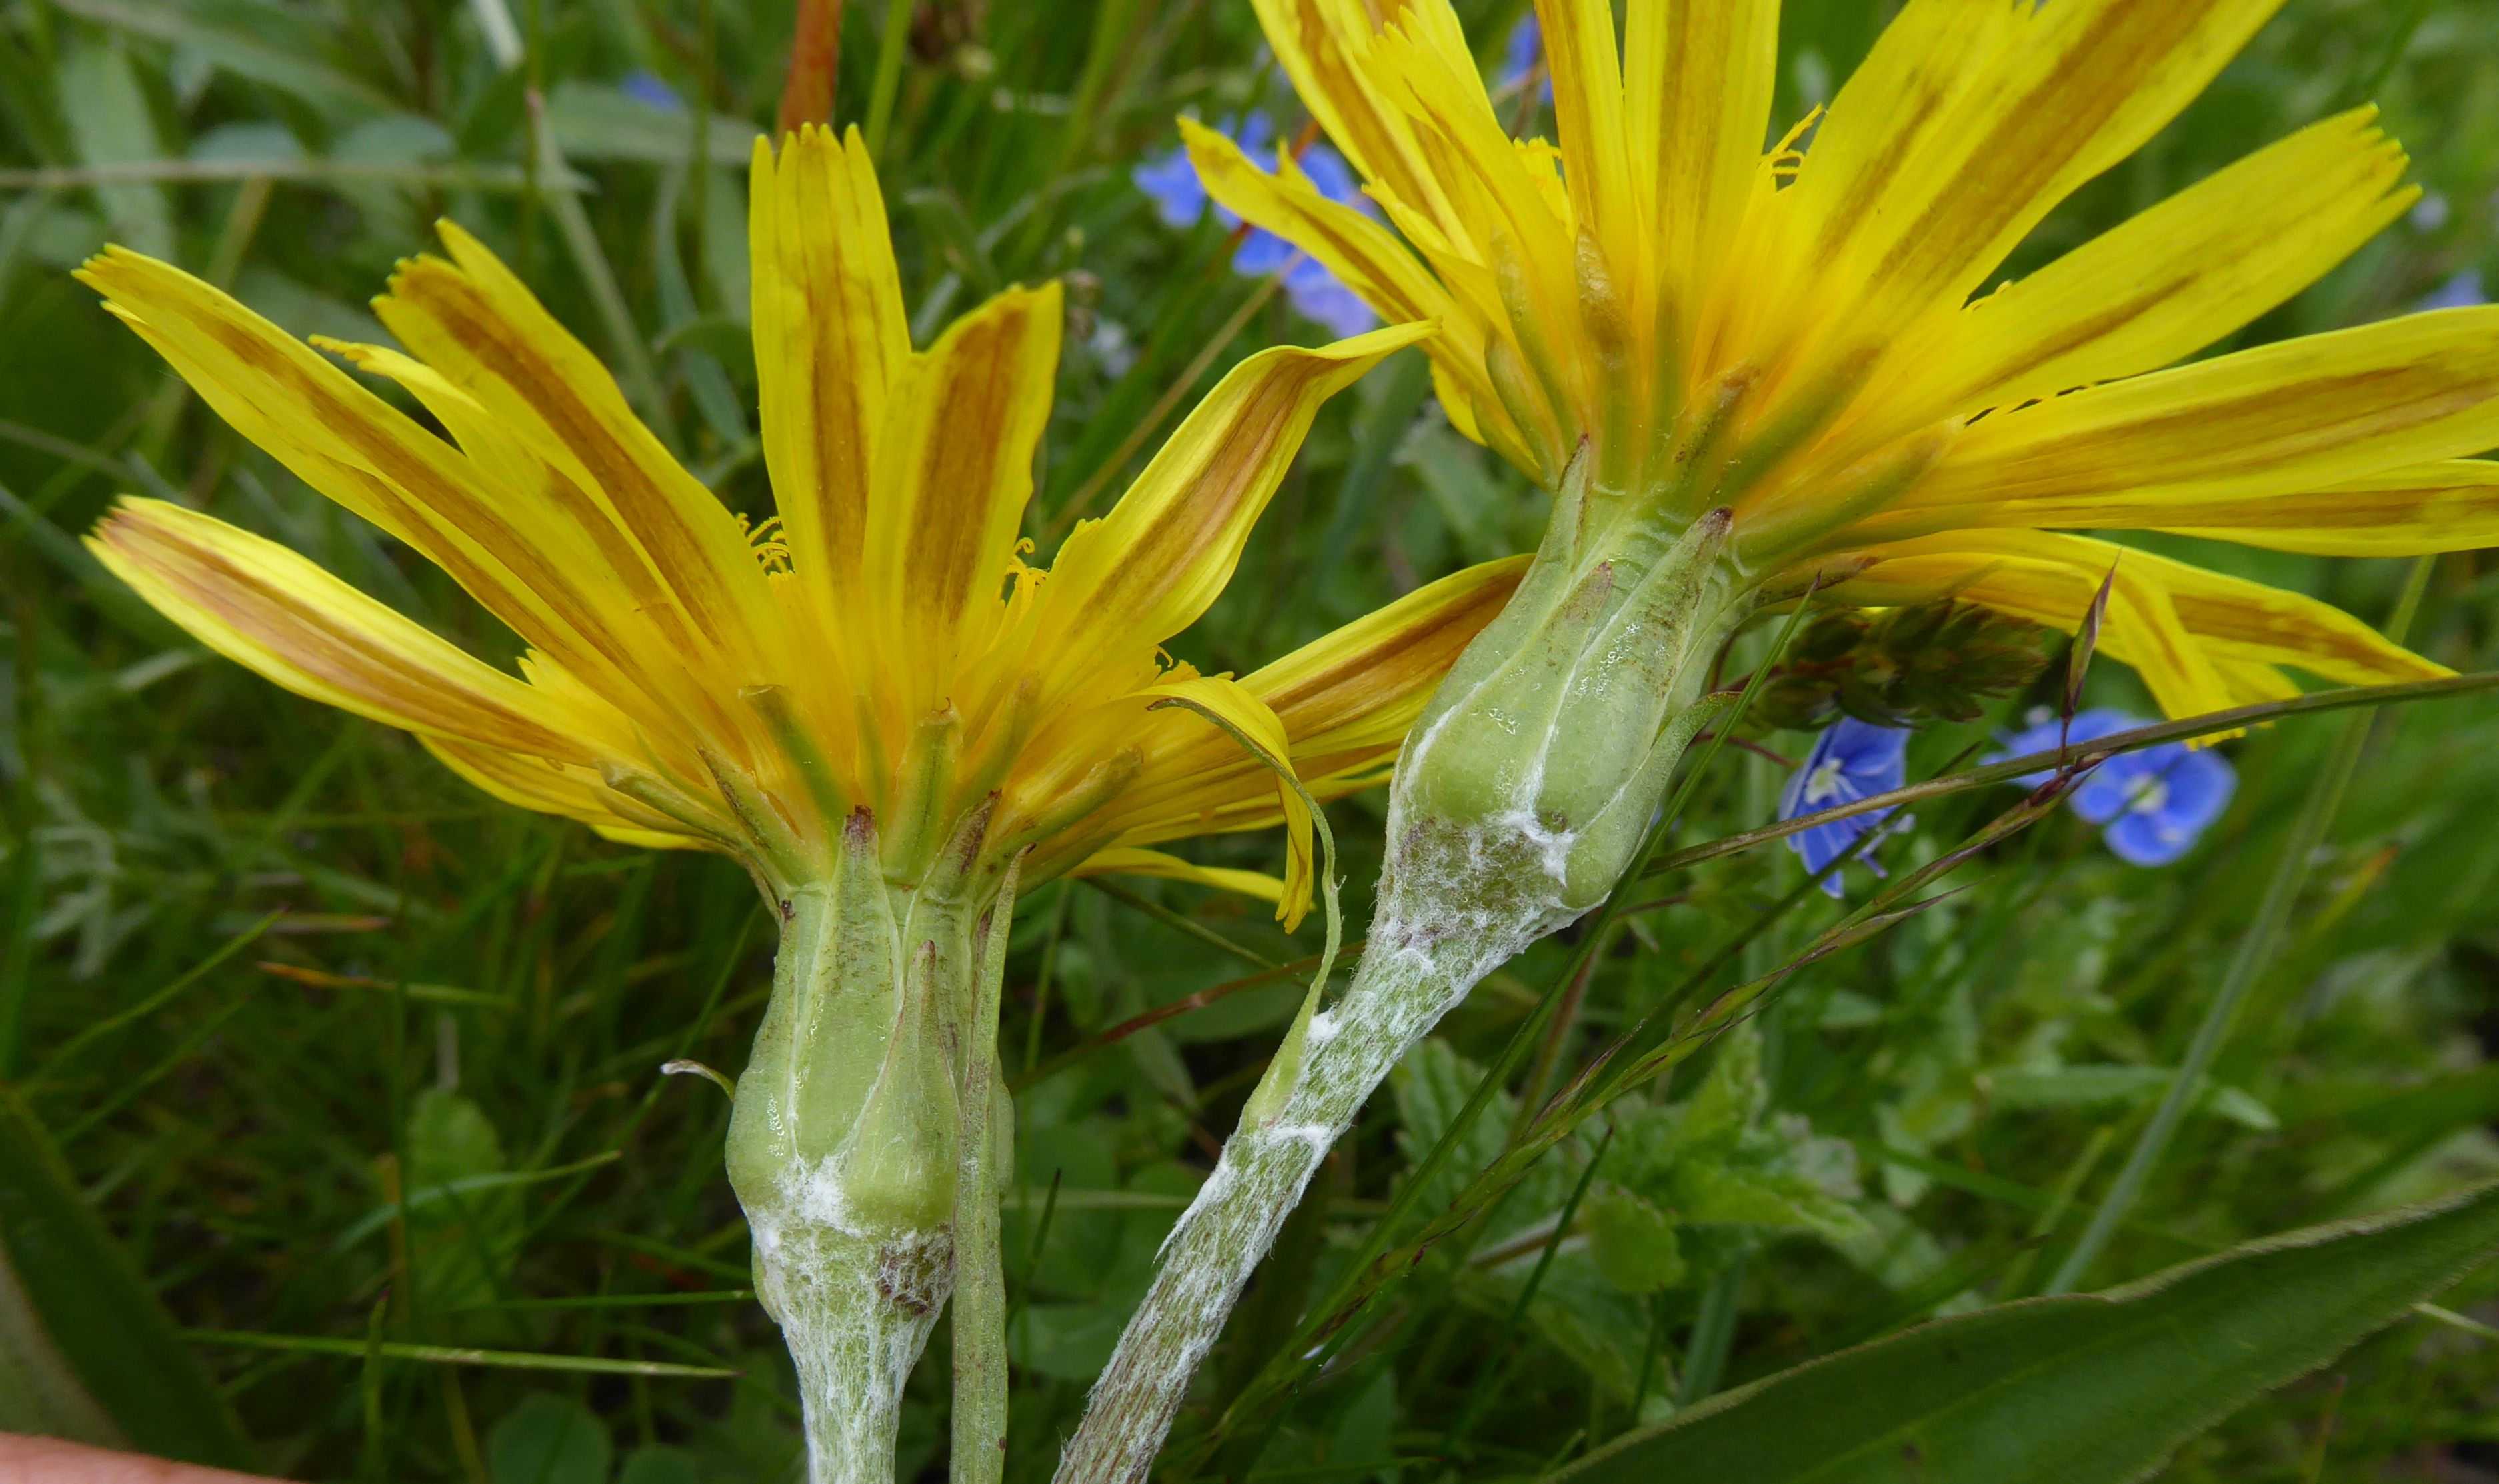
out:
{"label": "slanting white-woolly stem and green base of the right yellow flower", "polygon": [[[1095,1384],[1060,1484],[1137,1484],[1252,1269],[1372,1089],[1494,967],[1612,889],[1752,612],[1729,520],[1587,530],[1584,460],[1517,597],[1412,730],[1379,907],[1344,999],[1287,1032]],[[1612,767],[1549,769],[1554,740]],[[1322,1032],[1324,1022],[1324,1032]]]}

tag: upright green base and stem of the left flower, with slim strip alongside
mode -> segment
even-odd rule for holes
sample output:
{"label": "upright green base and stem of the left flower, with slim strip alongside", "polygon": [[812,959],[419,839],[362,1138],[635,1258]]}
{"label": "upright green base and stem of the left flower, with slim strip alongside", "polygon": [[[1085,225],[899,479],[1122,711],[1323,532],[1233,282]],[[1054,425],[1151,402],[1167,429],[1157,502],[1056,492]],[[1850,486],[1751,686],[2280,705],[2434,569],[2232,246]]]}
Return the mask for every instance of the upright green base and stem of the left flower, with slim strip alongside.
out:
{"label": "upright green base and stem of the left flower, with slim strip alongside", "polygon": [[902,1384],[957,1297],[957,1479],[1005,1447],[997,999],[1017,864],[985,874],[962,819],[917,882],[885,879],[875,822],[830,879],[775,892],[772,1004],[737,1079],[727,1167],[755,1297],[797,1362],[810,1484],[892,1484]]}

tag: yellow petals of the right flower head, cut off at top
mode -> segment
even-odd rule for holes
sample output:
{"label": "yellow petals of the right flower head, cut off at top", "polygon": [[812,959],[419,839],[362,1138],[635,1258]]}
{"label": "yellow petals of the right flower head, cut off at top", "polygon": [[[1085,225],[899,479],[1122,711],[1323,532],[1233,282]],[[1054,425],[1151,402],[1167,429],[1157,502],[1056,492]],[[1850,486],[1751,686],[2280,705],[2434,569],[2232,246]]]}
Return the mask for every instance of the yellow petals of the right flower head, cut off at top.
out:
{"label": "yellow petals of the right flower head, cut off at top", "polygon": [[[2069,530],[2327,555],[2499,542],[2499,307],[2182,365],[2414,200],[2354,110],[1987,290],[2282,0],[1909,0],[1827,112],[1769,137],[1777,0],[1537,0],[1559,145],[1512,140],[1447,0],[1257,0],[1384,207],[1182,125],[1217,200],[1387,320],[1442,322],[1442,407],[1547,487],[1729,510],[1762,582],[1957,592],[2074,627],[2172,715],[2279,667],[2442,675],[2307,597]],[[1619,62],[1617,62],[1619,57]],[[1832,587],[1837,582],[1837,587]]]}

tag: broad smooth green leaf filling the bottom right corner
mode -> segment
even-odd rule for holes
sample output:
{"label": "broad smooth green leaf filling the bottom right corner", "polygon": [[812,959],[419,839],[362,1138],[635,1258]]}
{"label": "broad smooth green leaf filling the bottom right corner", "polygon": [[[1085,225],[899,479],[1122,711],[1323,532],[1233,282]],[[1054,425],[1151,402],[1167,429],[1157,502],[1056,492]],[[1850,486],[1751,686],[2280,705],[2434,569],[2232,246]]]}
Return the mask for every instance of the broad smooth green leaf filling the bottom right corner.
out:
{"label": "broad smooth green leaf filling the bottom right corner", "polygon": [[1634,1434],[1572,1484],[2124,1484],[2499,1252],[2499,1187],[1849,1349]]}

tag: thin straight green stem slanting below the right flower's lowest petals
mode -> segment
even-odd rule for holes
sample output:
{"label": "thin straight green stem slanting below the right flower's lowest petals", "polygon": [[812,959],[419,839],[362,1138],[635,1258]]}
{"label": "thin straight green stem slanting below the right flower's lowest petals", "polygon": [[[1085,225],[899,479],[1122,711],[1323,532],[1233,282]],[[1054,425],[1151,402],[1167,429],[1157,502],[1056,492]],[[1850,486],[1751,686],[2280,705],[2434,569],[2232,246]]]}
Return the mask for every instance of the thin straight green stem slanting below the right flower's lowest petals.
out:
{"label": "thin straight green stem slanting below the right flower's lowest petals", "polygon": [[[2422,605],[2422,590],[2429,587],[2429,567],[2434,562],[2437,557],[2419,557],[2412,565],[2404,597],[2387,622],[2387,637],[2397,645],[2412,630],[2412,615]],[[2187,1107],[2202,1092],[2204,1074],[2212,1069],[2214,1057],[2222,1054],[2229,1027],[2239,1019],[2239,1007],[2247,1002],[2249,989],[2257,987],[2264,964],[2274,957],[2282,927],[2289,922],[2292,907],[2299,902],[2299,889],[2309,879],[2309,862],[2317,857],[2317,847],[2324,844],[2327,829],[2334,824],[2334,812],[2342,809],[2344,789],[2359,769],[2359,754],[2369,742],[2374,720],[2374,712],[2362,712],[2347,720],[2342,735],[2334,737],[2334,749],[2317,772],[2309,802],[2299,812],[2299,822],[2292,824],[2292,839],[2274,864],[2274,879],[2264,887],[2264,904],[2257,907],[2257,922],[2239,939],[2239,952],[2222,977],[2222,989],[2204,1007],[2204,1022],[2197,1024],[2194,1039],[2187,1042],[2187,1057],[2179,1062],[2177,1074],[2169,1077],[2169,1092],[2162,1094],[2162,1104],[2152,1109],[2152,1122],[2144,1124],[2144,1132],[2134,1139],[2134,1149],[2127,1152],[2127,1164],[2117,1172],[2117,1182],[2109,1184],[2109,1194],[2099,1202],[2099,1209],[2092,1212],[2092,1224],[2082,1229],[2082,1239],[2074,1242],[2074,1249],[2064,1254],[2057,1274],[2047,1282],[2049,1297],[2072,1294],[2082,1284],[2092,1264],[2107,1252],[2109,1239],[2117,1237],[2119,1222],[2142,1199],[2144,1184],[2152,1179],[2152,1167],[2169,1152],[2169,1142],[2187,1119]]]}

